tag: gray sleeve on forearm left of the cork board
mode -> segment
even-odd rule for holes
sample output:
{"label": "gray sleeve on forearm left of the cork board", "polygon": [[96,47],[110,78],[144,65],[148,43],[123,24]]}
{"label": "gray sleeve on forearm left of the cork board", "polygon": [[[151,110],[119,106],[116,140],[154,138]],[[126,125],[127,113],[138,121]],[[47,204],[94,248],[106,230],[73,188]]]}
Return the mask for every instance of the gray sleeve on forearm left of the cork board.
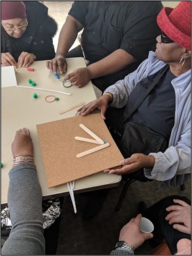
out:
{"label": "gray sleeve on forearm left of the cork board", "polygon": [[35,165],[22,164],[9,172],[8,208],[12,229],[1,255],[45,255],[42,192]]}

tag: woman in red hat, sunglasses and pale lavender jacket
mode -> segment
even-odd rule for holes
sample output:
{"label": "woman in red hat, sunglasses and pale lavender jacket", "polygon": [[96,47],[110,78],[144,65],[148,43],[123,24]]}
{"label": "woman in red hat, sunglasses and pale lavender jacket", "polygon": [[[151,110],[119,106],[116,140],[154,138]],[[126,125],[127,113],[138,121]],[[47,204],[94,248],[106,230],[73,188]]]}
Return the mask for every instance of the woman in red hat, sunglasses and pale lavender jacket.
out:
{"label": "woman in red hat, sunglasses and pale lavender jacket", "polygon": [[[157,36],[156,51],[150,52],[148,59],[134,73],[109,86],[100,98],[78,111],[85,116],[98,108],[110,127],[121,128],[126,120],[147,126],[165,137],[168,146],[163,151],[140,151],[127,156],[122,146],[125,160],[120,162],[121,167],[105,171],[134,175],[143,170],[145,178],[161,181],[159,187],[163,188],[180,186],[191,176],[191,2],[182,1],[174,9],[163,8],[157,23],[161,35]],[[152,91],[127,117],[127,110],[165,66],[167,70]],[[122,136],[122,129],[119,131]],[[135,141],[135,144],[139,143]]]}

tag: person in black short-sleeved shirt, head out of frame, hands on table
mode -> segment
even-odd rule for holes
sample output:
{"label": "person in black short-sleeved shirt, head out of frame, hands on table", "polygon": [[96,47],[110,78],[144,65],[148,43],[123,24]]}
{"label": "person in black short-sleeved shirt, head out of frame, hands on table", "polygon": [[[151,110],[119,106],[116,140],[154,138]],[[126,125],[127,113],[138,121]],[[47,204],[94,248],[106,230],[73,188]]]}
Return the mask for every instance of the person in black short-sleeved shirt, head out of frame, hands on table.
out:
{"label": "person in black short-sleeved shirt, head out of frame, hands on table", "polygon": [[[74,1],[61,29],[56,56],[47,68],[66,73],[65,58],[84,54],[90,65],[73,70],[64,80],[79,88],[92,80],[104,91],[134,71],[155,49],[160,32],[156,18],[162,8],[161,1]],[[81,45],[70,50],[82,29]]]}

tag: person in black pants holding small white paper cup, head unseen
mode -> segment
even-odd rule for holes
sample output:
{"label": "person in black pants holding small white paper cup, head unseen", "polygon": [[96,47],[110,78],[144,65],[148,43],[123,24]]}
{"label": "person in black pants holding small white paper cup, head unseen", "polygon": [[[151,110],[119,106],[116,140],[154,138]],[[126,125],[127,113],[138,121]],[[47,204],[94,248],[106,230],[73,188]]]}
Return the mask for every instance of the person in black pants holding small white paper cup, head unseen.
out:
{"label": "person in black pants holding small white paper cup, head unseen", "polygon": [[171,195],[145,209],[143,216],[154,224],[152,233],[141,232],[141,216],[138,214],[122,227],[119,236],[122,243],[116,244],[111,255],[134,255],[134,250],[145,240],[157,235],[166,240],[173,255],[191,255],[191,202],[188,198]]}

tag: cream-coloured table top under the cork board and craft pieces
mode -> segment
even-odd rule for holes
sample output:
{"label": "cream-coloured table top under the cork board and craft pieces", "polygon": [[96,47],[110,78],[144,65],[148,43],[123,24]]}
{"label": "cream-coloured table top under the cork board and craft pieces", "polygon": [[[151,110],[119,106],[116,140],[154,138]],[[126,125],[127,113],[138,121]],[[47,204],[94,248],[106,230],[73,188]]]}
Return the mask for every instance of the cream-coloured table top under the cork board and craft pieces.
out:
{"label": "cream-coloured table top under the cork board and craft pieces", "polygon": [[[77,113],[77,109],[66,112],[65,114],[59,114],[59,112],[77,103],[83,101],[88,103],[91,100],[95,100],[96,96],[91,82],[88,82],[81,89],[77,86],[64,88],[63,83],[57,80],[53,73],[47,70],[45,63],[46,61],[35,61],[31,65],[31,68],[35,69],[34,72],[30,72],[26,68],[19,68],[18,73],[16,73],[17,84],[19,86],[31,86],[28,82],[31,79],[36,82],[36,88],[61,90],[72,93],[72,95],[67,96],[61,93],[38,91],[35,90],[35,86],[33,87],[34,89],[23,89],[17,88],[16,86],[1,89],[1,162],[3,163],[3,168],[1,168],[1,204],[7,203],[8,172],[13,165],[11,143],[15,137],[16,130],[24,127],[28,128],[31,132],[35,165],[38,170],[43,198],[49,199],[68,193],[66,184],[54,188],[47,187],[36,124],[74,116]],[[75,68],[86,66],[83,58],[67,59],[67,65],[68,73],[72,72]],[[63,78],[61,75],[60,77]],[[33,93],[37,93],[38,98],[33,98]],[[60,100],[54,103],[47,103],[45,97],[48,95],[54,95]],[[121,176],[114,174],[109,175],[103,172],[94,174],[75,181],[74,193],[118,186],[120,180]]]}

